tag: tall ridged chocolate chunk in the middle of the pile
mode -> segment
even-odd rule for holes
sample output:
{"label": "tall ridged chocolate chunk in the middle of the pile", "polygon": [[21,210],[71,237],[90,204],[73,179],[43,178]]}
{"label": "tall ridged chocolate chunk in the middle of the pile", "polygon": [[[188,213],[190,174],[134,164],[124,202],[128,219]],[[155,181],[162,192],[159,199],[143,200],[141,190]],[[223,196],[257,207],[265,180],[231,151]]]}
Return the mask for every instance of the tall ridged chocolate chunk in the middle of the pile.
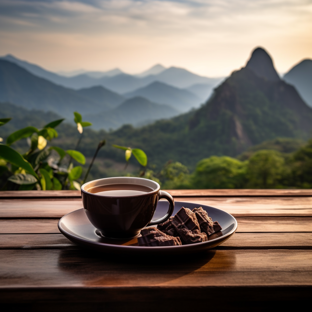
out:
{"label": "tall ridged chocolate chunk in the middle of the pile", "polygon": [[182,207],[171,220],[183,244],[194,244],[207,241],[207,235],[200,232],[195,213]]}

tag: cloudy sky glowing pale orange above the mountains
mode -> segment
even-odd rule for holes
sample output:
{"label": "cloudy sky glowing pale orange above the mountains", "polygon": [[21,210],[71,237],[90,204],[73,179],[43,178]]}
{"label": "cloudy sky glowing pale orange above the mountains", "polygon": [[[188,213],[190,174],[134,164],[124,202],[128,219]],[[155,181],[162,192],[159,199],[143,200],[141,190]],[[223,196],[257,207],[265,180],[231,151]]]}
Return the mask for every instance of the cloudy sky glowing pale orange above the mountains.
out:
{"label": "cloudy sky glowing pale orange above the mountains", "polygon": [[312,59],[312,0],[0,0],[0,55],[51,71],[227,76],[257,46],[280,73]]}

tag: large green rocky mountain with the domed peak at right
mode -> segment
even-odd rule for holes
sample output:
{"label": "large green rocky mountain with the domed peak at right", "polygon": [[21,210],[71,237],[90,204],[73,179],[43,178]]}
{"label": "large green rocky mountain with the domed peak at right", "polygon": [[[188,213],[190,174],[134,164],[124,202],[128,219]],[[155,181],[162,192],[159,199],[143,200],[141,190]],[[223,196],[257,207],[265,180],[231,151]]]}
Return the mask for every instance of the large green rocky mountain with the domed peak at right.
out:
{"label": "large green rocky mountain with the domed peak at right", "polygon": [[[277,137],[310,138],[312,109],[293,86],[261,77],[268,72],[259,68],[267,64],[258,66],[255,71],[246,66],[233,72],[198,110],[140,129],[124,126],[111,134],[112,139],[144,149],[149,163],[158,167],[169,159],[192,167],[202,158],[235,156]],[[153,139],[146,140],[147,133]]]}

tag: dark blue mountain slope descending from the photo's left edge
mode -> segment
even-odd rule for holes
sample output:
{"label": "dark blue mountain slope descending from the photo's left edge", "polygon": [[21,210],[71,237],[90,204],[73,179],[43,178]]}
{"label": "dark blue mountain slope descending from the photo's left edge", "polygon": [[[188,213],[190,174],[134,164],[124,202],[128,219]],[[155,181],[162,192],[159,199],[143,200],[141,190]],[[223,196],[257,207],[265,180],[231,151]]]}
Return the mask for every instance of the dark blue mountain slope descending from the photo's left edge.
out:
{"label": "dark blue mountain slope descending from the photo's left edge", "polygon": [[0,101],[43,111],[52,111],[72,119],[81,114],[103,110],[103,105],[87,99],[75,90],[67,89],[32,75],[14,63],[0,60]]}

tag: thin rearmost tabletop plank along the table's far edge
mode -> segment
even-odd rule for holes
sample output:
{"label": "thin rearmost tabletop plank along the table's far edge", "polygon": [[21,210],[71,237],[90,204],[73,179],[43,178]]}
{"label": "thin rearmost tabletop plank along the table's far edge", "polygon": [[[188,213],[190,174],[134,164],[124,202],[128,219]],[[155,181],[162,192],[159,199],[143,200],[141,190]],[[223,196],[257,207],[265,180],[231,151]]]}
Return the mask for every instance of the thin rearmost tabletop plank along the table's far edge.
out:
{"label": "thin rearmost tabletop plank along the table's far edge", "polygon": [[[311,189],[202,189],[166,190],[176,197],[312,196]],[[1,191],[0,198],[80,198],[80,191]]]}

